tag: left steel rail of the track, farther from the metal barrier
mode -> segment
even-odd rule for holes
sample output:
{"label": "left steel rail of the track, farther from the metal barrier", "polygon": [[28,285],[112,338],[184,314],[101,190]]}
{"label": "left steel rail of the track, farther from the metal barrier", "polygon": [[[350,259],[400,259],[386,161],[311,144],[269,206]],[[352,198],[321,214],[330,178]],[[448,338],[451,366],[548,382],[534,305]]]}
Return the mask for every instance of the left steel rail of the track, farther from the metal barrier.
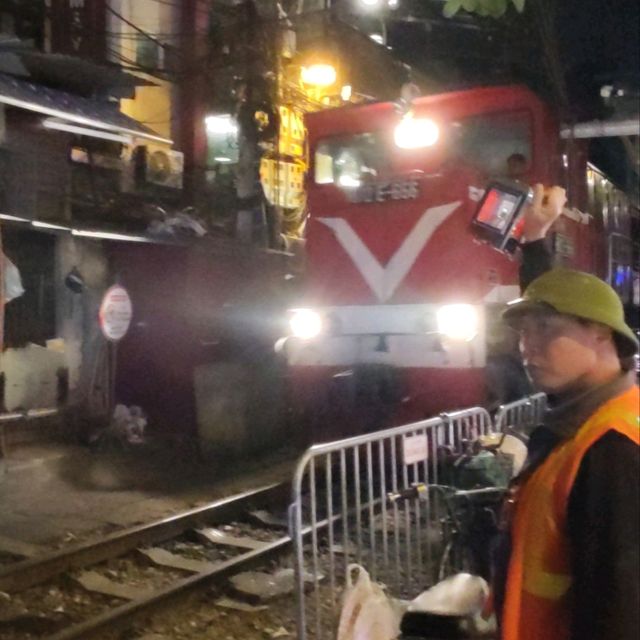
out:
{"label": "left steel rail of the track, farther from the metal barrier", "polygon": [[195,525],[229,521],[242,514],[247,503],[272,503],[288,494],[286,483],[274,483],[217,500],[175,516],[156,520],[60,551],[22,560],[0,570],[0,591],[12,593],[40,584],[70,569],[114,558],[141,545],[170,540]]}

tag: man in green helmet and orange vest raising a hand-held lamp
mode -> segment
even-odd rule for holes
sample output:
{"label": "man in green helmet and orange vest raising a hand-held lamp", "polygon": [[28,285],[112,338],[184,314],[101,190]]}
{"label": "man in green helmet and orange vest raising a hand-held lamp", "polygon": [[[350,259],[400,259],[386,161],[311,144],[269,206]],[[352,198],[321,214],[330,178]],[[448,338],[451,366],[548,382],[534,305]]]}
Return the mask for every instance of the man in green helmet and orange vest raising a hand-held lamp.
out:
{"label": "man in green helmet and orange vest raising a hand-held lamp", "polygon": [[[558,187],[542,198],[538,187],[525,216],[532,245],[564,206]],[[571,269],[535,278],[504,318],[550,409],[505,505],[495,587],[501,638],[638,640],[638,339],[616,292]]]}

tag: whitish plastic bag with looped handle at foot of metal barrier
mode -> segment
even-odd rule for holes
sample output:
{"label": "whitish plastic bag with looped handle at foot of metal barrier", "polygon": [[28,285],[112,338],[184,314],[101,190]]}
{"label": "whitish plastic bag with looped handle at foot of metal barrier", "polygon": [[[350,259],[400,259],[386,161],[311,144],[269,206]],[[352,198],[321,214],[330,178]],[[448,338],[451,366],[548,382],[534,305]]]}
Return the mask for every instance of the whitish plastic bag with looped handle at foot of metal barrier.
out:
{"label": "whitish plastic bag with looped handle at foot of metal barrier", "polygon": [[[355,583],[354,570],[358,571]],[[338,640],[393,640],[399,633],[399,616],[382,587],[360,565],[350,564]]]}

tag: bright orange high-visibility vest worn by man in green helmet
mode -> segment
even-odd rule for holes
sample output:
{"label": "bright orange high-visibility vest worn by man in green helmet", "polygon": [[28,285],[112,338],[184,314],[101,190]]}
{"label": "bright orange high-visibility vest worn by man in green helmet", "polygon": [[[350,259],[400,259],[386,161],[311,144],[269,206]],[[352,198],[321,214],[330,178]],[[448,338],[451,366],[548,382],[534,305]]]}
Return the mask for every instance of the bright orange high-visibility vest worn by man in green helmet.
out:
{"label": "bright orange high-visibility vest worn by man in green helmet", "polygon": [[603,404],[557,446],[517,496],[502,640],[568,640],[571,610],[567,502],[587,450],[608,431],[640,444],[635,386]]}

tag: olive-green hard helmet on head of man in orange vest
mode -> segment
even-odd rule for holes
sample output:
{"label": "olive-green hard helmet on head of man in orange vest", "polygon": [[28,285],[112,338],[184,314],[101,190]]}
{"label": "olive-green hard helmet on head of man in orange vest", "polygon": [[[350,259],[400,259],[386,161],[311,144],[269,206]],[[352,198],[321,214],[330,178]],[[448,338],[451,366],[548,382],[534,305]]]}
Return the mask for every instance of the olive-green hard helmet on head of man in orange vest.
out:
{"label": "olive-green hard helmet on head of man in orange vest", "polygon": [[558,313],[599,322],[613,329],[621,357],[638,351],[638,338],[624,320],[624,308],[618,294],[590,273],[551,269],[536,278],[521,298],[509,302],[502,316],[511,323],[524,313],[549,310],[549,307]]}

